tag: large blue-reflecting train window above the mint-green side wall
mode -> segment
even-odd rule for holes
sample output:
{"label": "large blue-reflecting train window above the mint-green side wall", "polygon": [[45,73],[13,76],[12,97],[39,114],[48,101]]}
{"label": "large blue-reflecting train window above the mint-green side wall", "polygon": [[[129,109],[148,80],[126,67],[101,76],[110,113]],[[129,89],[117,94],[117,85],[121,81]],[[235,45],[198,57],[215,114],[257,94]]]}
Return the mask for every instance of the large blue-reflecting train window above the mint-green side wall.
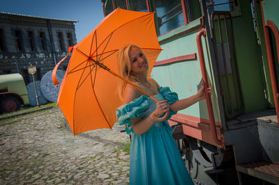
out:
{"label": "large blue-reflecting train window above the mint-green side wall", "polygon": [[184,25],[181,0],[156,0],[155,6],[160,35]]}

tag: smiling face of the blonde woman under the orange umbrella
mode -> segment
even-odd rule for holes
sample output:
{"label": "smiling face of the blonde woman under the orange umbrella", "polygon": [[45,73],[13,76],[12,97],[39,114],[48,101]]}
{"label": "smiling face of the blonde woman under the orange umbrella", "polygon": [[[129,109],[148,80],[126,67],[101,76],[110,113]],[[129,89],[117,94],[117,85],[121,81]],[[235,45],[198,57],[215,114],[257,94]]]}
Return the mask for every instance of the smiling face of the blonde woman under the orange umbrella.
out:
{"label": "smiling face of the blonde woman under the orange umbrella", "polygon": [[135,73],[146,72],[149,69],[146,56],[137,47],[131,47],[129,51],[131,70]]}

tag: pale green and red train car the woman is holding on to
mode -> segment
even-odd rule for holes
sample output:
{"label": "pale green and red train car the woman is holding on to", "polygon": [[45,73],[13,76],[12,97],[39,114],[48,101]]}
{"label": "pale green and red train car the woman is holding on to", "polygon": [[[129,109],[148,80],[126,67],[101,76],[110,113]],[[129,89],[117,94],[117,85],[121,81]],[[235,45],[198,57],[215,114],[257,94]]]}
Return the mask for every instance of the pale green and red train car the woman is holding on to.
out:
{"label": "pale green and red train car the woman is holding on to", "polygon": [[156,12],[151,77],[180,98],[212,95],[169,121],[195,184],[279,184],[278,0],[103,0]]}

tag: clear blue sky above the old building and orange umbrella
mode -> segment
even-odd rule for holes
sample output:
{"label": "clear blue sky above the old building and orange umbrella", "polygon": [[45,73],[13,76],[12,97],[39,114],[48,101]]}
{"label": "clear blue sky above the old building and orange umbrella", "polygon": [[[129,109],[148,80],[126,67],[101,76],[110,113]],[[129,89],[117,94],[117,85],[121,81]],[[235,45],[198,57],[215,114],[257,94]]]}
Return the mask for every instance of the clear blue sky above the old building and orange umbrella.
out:
{"label": "clear blue sky above the old building and orange umbrella", "polygon": [[100,0],[1,0],[1,12],[70,19],[75,23],[77,42],[104,18]]}

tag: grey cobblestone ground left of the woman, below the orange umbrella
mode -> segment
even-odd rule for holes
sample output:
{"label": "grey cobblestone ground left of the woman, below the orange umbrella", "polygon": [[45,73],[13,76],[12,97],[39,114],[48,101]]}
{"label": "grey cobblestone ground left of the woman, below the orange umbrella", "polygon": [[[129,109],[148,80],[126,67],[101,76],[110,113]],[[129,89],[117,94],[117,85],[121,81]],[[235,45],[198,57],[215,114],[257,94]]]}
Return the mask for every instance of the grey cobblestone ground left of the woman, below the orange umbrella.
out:
{"label": "grey cobblestone ground left of the woman, below the orange umbrella", "polygon": [[129,137],[113,129],[89,136],[120,142],[117,147],[63,127],[57,107],[0,120],[0,184],[128,184]]}

